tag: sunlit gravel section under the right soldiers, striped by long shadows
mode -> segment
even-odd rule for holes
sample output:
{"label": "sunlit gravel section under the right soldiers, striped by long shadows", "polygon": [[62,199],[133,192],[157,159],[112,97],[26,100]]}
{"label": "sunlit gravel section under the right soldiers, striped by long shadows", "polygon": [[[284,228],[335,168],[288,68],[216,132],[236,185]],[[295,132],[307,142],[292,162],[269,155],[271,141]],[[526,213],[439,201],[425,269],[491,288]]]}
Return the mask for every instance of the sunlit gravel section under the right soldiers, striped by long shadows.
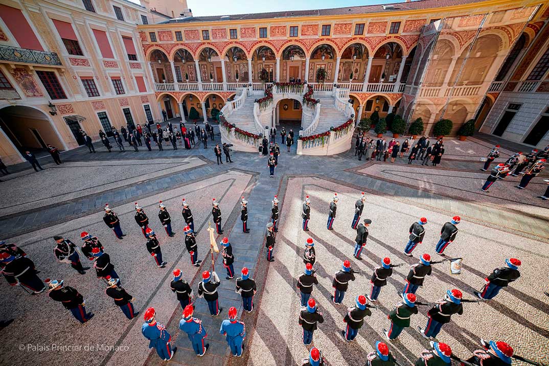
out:
{"label": "sunlit gravel section under the right soldiers, striped by long shadows", "polygon": [[[332,232],[326,230],[329,200],[338,192],[338,216]],[[301,202],[311,196],[310,232],[301,230]],[[368,195],[363,218],[371,218],[369,238],[363,261],[352,258],[355,230],[350,228],[354,202],[360,192],[318,178],[292,178],[284,196],[281,229],[277,234],[276,262],[271,263],[267,273],[265,292],[262,297],[257,327],[251,331],[249,342],[251,365],[295,365],[307,357],[310,347],[302,344],[301,328],[298,325],[299,297],[296,281],[304,270],[302,250],[307,237],[315,239],[317,278],[320,284],[312,297],[324,313],[324,323],[315,332],[313,345],[320,348],[330,365],[362,365],[366,354],[373,350],[377,340],[384,339],[383,328],[389,327],[386,314],[399,302],[396,291],[401,291],[408,267],[395,268],[387,286],[382,289],[379,302],[372,317],[359,331],[355,342],[347,343],[340,336],[344,329],[343,317],[347,307],[353,306],[355,297],[369,293],[369,278],[381,258],[389,256],[393,263],[416,263],[417,256],[427,252],[433,260],[440,257],[434,253],[439,229],[449,217],[395,201],[390,197]],[[429,222],[422,245],[414,251],[416,258],[402,254],[407,242],[408,228],[418,217],[425,216]],[[511,288],[500,292],[489,303],[466,304],[463,316],[452,317],[453,322],[443,326],[438,336],[447,342],[455,354],[469,357],[470,351],[478,349],[478,339],[497,339],[509,342],[517,354],[538,362],[549,360],[549,306],[546,274],[540,278],[539,269],[549,265],[546,243],[525,239],[473,222],[462,221],[455,243],[446,254],[464,257],[460,275],[450,275],[449,266],[436,264],[425,286],[417,292],[421,301],[436,301],[447,289],[458,288],[464,298],[472,299],[472,291],[481,288],[483,278],[493,268],[501,267],[505,258],[517,257],[522,261],[522,277]],[[341,262],[350,259],[354,268],[366,271],[358,274],[345,295],[344,305],[334,305],[329,298],[332,293],[333,274]],[[428,307],[420,307],[419,314],[412,317],[411,328],[403,331],[398,340],[390,343],[390,349],[403,364],[414,362],[428,342],[414,330],[424,326]]]}

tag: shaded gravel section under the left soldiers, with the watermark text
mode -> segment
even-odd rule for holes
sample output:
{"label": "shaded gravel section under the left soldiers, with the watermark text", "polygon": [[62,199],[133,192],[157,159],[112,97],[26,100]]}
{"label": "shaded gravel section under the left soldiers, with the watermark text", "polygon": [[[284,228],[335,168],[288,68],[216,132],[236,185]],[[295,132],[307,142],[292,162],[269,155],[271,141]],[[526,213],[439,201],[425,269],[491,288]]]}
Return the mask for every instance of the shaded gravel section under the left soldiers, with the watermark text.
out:
{"label": "shaded gravel section under the left soldiers, with the watermark text", "polygon": [[[77,246],[81,246],[80,232],[88,231],[96,235],[110,255],[116,272],[120,275],[124,288],[136,298],[136,311],[143,311],[148,306],[156,308],[157,319],[166,322],[175,309],[180,306],[175,295],[169,290],[174,268],[180,268],[183,277],[190,280],[197,268],[191,266],[188,252],[184,246],[182,232],[183,218],[181,216],[181,199],[189,202],[193,211],[195,228],[211,221],[211,198],[215,195],[220,201],[221,211],[228,215],[238,204],[242,192],[247,187],[251,176],[249,174],[230,172],[219,177],[185,185],[167,192],[149,196],[139,201],[149,217],[152,227],[159,238],[163,256],[168,262],[166,268],[158,268],[145,248],[146,240],[141,234],[133,216],[133,202],[112,207],[119,215],[122,230],[127,236],[117,240],[114,233],[105,226],[103,213],[83,216],[70,222],[37,230],[16,238],[8,243],[16,243],[24,248],[36,267],[42,272],[44,279],[64,279],[65,284],[73,286],[86,299],[88,311],[96,316],[81,325],[72,318],[60,303],[48,298],[47,293],[30,296],[23,289],[10,288],[2,281],[0,289],[0,319],[15,319],[12,324],[3,329],[0,341],[2,365],[129,365],[142,364],[150,352],[148,342],[141,335],[143,323],[142,314],[134,320],[128,320],[114,301],[103,291],[105,285],[96,278],[93,268],[86,275],[80,275],[70,266],[58,263],[53,255],[53,235],[64,235]],[[172,217],[172,229],[176,232],[174,238],[168,238],[158,219],[158,201],[163,200]],[[223,217],[225,220],[226,217]],[[204,259],[209,254],[209,234],[205,229],[199,231],[197,241],[199,258]],[[87,258],[82,263],[89,266]],[[120,346],[119,350],[75,352],[27,351],[26,345],[105,345]],[[23,346],[21,346],[23,345]],[[23,347],[20,351],[19,347]]]}

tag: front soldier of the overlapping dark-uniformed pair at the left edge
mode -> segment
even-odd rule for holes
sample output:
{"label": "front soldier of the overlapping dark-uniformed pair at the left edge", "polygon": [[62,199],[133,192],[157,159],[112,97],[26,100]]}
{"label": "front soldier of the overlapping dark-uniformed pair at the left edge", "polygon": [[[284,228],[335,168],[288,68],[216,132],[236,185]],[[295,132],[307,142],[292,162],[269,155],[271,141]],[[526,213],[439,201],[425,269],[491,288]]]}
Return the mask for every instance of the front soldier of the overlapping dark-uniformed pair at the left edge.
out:
{"label": "front soldier of the overlapping dark-uniformed pair at the left edge", "polygon": [[12,286],[25,286],[33,295],[46,290],[46,286],[36,275],[35,264],[27,257],[15,257],[5,251],[0,254],[2,274]]}

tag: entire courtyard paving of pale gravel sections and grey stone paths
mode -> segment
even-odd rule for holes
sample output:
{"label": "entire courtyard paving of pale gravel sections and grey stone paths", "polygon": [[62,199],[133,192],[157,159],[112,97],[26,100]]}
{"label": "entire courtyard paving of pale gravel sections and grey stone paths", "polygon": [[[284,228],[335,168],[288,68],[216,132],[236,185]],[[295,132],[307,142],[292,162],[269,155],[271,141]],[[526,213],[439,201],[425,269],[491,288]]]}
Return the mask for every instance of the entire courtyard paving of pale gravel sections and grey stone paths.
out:
{"label": "entire courtyard paving of pale gravel sections and grey stone paths", "polygon": [[[218,136],[216,142],[219,142]],[[549,238],[545,215],[549,206],[546,201],[535,199],[539,187],[542,187],[542,177],[536,178],[531,187],[520,192],[520,196],[511,196],[511,207],[509,202],[501,204],[498,200],[505,194],[515,193],[514,188],[507,187],[511,182],[501,182],[500,187],[492,189],[494,194],[490,196],[479,195],[475,187],[480,176],[485,174],[478,173],[481,164],[478,157],[488,153],[492,142],[470,139],[466,144],[456,143],[457,140],[452,139],[445,141],[447,159],[443,157],[440,168],[401,165],[407,160],[400,159],[395,164],[372,164],[358,161],[352,151],[329,157],[296,156],[285,153],[282,147],[275,178],[268,176],[266,158],[257,154],[234,153],[234,163],[217,165],[212,151],[214,145],[210,143],[208,149],[197,145],[191,150],[140,150],[137,153],[114,150],[108,153],[98,149],[96,154],[89,154],[87,149],[81,148],[64,153],[62,159],[66,163],[63,166],[47,164],[44,166],[46,171],[40,173],[21,165],[17,167],[18,173],[8,176],[10,181],[0,183],[3,192],[13,190],[15,193],[5,195],[3,200],[7,203],[0,205],[0,235],[25,248],[41,269],[41,277],[64,278],[68,285],[79,289],[88,308],[97,315],[91,322],[80,325],[46,295],[30,297],[22,290],[9,288],[4,281],[0,285],[5,294],[0,300],[0,319],[15,320],[0,336],[5,350],[0,363],[9,359],[8,363],[14,365],[28,362],[73,364],[75,361],[85,365],[164,364],[155,352],[147,349],[147,342],[140,334],[141,316],[127,320],[110,299],[106,299],[102,293],[104,284],[94,273],[81,276],[55,261],[53,235],[62,233],[80,245],[79,234],[87,230],[102,240],[124,287],[137,299],[136,309],[155,306],[159,322],[170,330],[173,344],[180,350],[170,365],[298,364],[307,354],[297,325],[299,302],[295,292],[296,279],[303,271],[301,255],[307,238],[300,230],[299,212],[301,200],[305,194],[310,194],[313,210],[309,234],[317,243],[320,280],[313,297],[326,318],[315,333],[315,345],[323,350],[329,364],[363,364],[365,354],[382,336],[382,329],[388,326],[384,314],[397,302],[396,290],[401,288],[407,268],[400,267],[395,271],[380,296],[380,309],[367,319],[357,342],[344,342],[337,332],[343,327],[341,319],[345,307],[334,307],[329,303],[329,294],[333,272],[352,254],[355,233],[350,228],[351,212],[361,190],[367,192],[365,212],[374,224],[370,230],[368,252],[365,253],[367,259],[353,261],[353,266],[370,272],[384,256],[390,256],[395,263],[414,263],[416,260],[401,254],[411,222],[419,216],[429,218],[428,234],[416,255],[422,250],[433,254],[441,224],[453,215],[461,215],[463,221],[458,239],[447,251],[449,255],[465,258],[463,273],[451,276],[445,266],[438,265],[428,286],[418,291],[419,297],[423,301],[434,301],[449,287],[461,289],[467,297],[472,296],[470,291],[479,288],[482,278],[492,268],[501,266],[507,256],[516,256],[523,261],[523,277],[489,304],[468,304],[466,314],[446,325],[439,338],[449,342],[462,357],[474,350],[478,337],[483,336],[507,340],[517,353],[526,357],[531,356],[529,350],[540,350],[537,361],[547,362],[549,307],[542,294],[547,290],[546,280],[540,277],[539,269],[545,268],[549,260],[544,246]],[[508,150],[515,148],[509,147]],[[506,149],[505,143],[502,143],[502,149]],[[474,159],[463,159],[459,156],[463,151]],[[82,171],[93,173],[93,179]],[[393,173],[386,173],[388,171]],[[478,182],[462,184],[460,181],[458,188],[462,191],[455,193],[452,192],[456,188],[455,181],[450,179],[453,176],[463,179],[463,182]],[[61,184],[63,180],[71,183]],[[97,181],[104,184],[97,188],[98,184],[94,183]],[[447,182],[452,184],[445,184]],[[41,192],[34,196],[32,191],[22,194],[21,187],[25,186],[41,188]],[[341,200],[335,230],[328,232],[327,210],[333,192],[338,192]],[[268,263],[264,258],[264,227],[275,194],[281,200],[281,230],[277,234],[276,262]],[[242,233],[239,219],[242,195],[249,201],[249,234]],[[183,245],[180,213],[183,196],[190,202],[195,226],[199,228],[199,256],[203,259],[200,268],[191,266]],[[219,334],[221,320],[226,317],[229,306],[237,306],[242,314],[239,296],[234,293],[234,281],[225,280],[220,257],[215,258],[215,267],[222,279],[222,316],[210,317],[205,301],[199,299],[195,302],[195,313],[208,329],[211,347],[206,356],[200,359],[193,356],[187,336],[178,333],[181,308],[169,290],[173,268],[182,269],[184,278],[191,281],[194,291],[200,272],[211,268],[208,233],[204,228],[211,220],[213,196],[221,200],[223,236],[228,236],[233,245],[237,275],[242,267],[248,267],[258,284],[254,312],[243,316],[248,330],[248,348],[242,358],[229,356],[226,342]],[[133,202],[137,200],[144,206],[151,226],[159,234],[169,263],[165,269],[154,266],[144,247],[145,240],[133,221]],[[158,200],[168,202],[177,233],[175,238],[167,238],[161,230],[156,217]],[[128,234],[123,241],[116,240],[102,222],[105,202],[109,202],[121,216],[122,228]],[[221,237],[216,240],[221,240]],[[368,289],[369,273],[352,284],[345,305],[350,306],[351,297]],[[423,325],[426,310],[422,309],[413,319],[413,325]],[[49,315],[44,316],[44,313]],[[52,343],[104,344],[119,348],[70,354],[18,351],[20,344]],[[391,350],[406,364],[404,358],[413,362],[425,345],[423,338],[410,330],[391,344]]]}

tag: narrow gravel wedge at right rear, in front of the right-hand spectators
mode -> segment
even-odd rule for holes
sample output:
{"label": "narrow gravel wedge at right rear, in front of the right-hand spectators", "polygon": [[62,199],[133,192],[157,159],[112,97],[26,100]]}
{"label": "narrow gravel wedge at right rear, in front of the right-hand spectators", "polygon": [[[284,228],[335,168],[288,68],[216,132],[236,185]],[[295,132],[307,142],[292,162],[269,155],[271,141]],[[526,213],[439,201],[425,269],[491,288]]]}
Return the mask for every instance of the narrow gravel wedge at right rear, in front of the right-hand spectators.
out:
{"label": "narrow gravel wedge at right rear, in front of the right-hand spectators", "polygon": [[441,170],[433,167],[410,165],[374,164],[358,171],[373,177],[382,177],[391,181],[411,184],[419,189],[432,190],[439,194],[459,196],[463,199],[488,202],[525,213],[534,213],[549,217],[549,201],[539,198],[547,189],[547,182],[536,177],[526,189],[518,189],[522,176],[508,176],[494,182],[488,193],[481,188],[489,172],[464,172]]}

